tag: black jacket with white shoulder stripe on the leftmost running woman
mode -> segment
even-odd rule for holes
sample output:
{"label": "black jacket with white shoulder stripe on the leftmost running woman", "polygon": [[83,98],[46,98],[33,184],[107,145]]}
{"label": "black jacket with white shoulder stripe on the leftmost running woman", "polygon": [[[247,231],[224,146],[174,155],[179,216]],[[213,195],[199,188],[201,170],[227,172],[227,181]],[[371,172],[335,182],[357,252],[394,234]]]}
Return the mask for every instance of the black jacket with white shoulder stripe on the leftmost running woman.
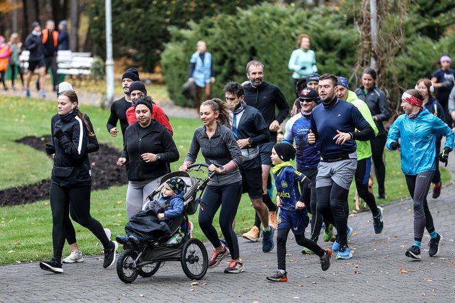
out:
{"label": "black jacket with white shoulder stripe on the leftmost running woman", "polygon": [[88,134],[84,121],[77,117],[75,110],[58,118],[51,130],[55,147],[51,182],[59,186],[90,185]]}

